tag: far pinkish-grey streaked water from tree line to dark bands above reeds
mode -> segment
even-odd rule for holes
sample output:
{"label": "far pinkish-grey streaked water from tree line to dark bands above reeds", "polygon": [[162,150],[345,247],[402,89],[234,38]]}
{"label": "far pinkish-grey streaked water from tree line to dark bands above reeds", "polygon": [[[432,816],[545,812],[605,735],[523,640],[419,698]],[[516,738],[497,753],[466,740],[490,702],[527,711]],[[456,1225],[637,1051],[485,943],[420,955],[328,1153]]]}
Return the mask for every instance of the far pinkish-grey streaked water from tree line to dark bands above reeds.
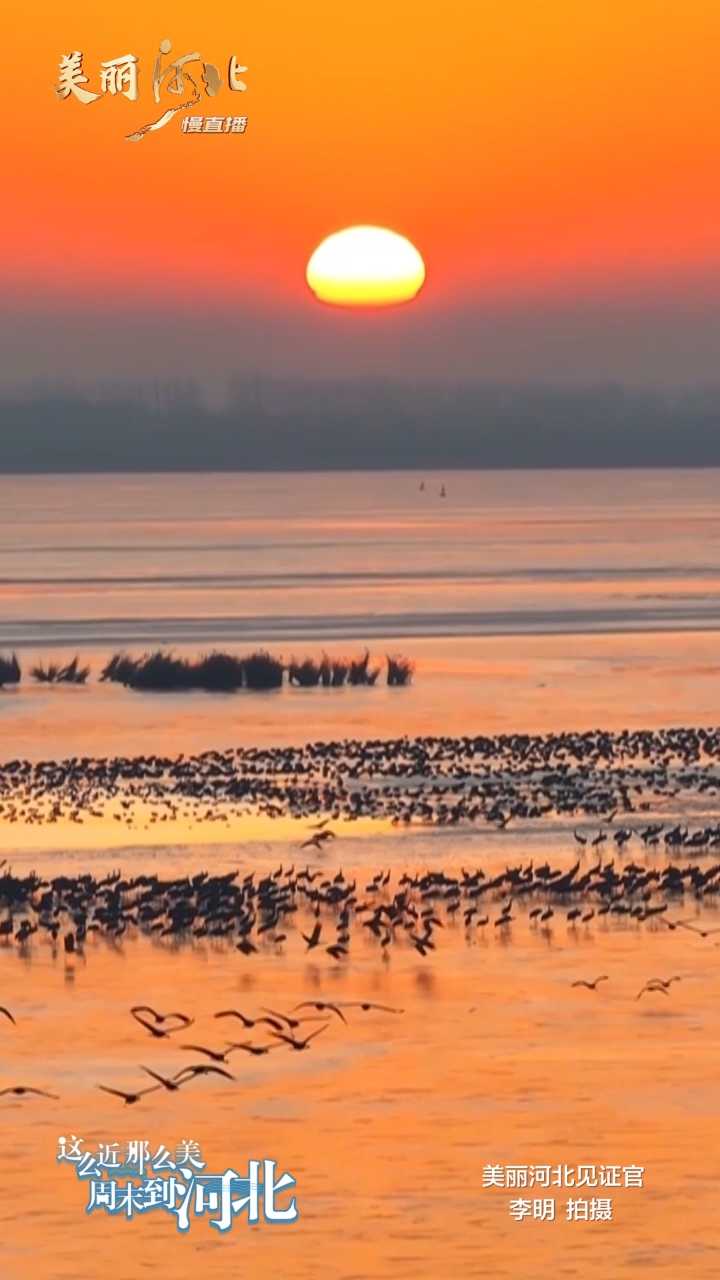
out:
{"label": "far pinkish-grey streaked water from tree line to dark bands above reeds", "polygon": [[420,490],[416,472],[4,477],[0,641],[716,627],[719,480],[456,472]]}

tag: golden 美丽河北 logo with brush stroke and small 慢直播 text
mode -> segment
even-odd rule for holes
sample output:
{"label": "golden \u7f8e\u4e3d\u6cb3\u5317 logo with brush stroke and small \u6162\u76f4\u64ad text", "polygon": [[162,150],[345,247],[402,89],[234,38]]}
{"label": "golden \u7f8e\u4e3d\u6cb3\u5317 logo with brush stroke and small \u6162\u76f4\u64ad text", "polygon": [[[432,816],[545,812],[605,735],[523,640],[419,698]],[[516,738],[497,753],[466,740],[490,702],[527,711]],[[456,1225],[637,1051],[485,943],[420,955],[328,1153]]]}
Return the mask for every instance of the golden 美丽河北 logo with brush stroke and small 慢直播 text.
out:
{"label": "golden \u7f8e\u4e3d\u6cb3\u5317 logo with brush stroke and small \u6162\u76f4\u64ad text", "polygon": [[[215,63],[206,61],[201,54],[182,54],[169,61],[173,51],[169,40],[161,40],[152,67],[152,97],[163,110],[132,133],[126,133],[128,142],[141,142],[147,133],[156,133],[167,124],[179,118],[183,133],[245,133],[246,115],[188,115],[202,102],[204,96],[215,99],[225,90],[231,93],[245,93],[247,84],[242,78],[249,68],[238,63],[234,54],[227,61],[225,73]],[[83,54],[73,50],[63,54],[59,64],[55,93],[60,101],[74,99],[81,106],[90,106],[106,97],[126,97],[128,102],[140,99],[141,74],[140,60],[135,54],[123,54],[100,63],[97,88],[88,87]],[[174,99],[182,99],[177,102]]]}

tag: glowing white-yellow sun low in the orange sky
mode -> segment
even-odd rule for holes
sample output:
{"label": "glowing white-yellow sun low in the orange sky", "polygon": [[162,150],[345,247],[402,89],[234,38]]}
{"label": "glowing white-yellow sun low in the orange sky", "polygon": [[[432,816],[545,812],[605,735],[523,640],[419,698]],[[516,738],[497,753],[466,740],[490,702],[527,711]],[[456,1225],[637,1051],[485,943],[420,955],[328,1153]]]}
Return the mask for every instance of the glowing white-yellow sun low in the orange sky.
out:
{"label": "glowing white-yellow sun low in the orange sky", "polygon": [[416,297],[425,282],[425,264],[397,232],[346,227],[318,244],[305,278],[320,302],[388,307]]}

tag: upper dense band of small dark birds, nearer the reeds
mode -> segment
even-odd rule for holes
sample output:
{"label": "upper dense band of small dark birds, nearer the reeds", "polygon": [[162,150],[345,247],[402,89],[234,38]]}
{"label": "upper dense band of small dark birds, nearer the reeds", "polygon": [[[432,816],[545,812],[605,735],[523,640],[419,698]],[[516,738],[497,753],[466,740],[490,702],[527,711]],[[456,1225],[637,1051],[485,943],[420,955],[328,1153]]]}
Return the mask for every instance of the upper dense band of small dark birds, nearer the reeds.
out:
{"label": "upper dense band of small dark birds, nearer the reeds", "polygon": [[[455,827],[651,814],[720,787],[720,730],[343,739],[197,755],[0,767],[0,824],[90,819],[128,829],[268,818]],[[712,828],[720,841],[720,831]]]}

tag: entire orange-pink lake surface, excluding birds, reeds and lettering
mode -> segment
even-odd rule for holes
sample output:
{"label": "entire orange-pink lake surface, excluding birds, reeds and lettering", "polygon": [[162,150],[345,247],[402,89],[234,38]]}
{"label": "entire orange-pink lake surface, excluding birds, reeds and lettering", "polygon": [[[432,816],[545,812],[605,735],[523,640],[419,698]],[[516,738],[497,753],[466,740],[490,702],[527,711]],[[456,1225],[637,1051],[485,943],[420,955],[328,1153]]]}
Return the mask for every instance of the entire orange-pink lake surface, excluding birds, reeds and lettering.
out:
{"label": "entire orange-pink lake surface, excluding birds, reeds and lettering", "polygon": [[[1,479],[0,652],[15,648],[24,668],[19,687],[0,691],[3,758],[719,722],[716,474],[448,474],[425,476],[420,489],[421,480]],[[97,682],[114,649],[158,645],[266,645],[284,658],[368,645],[379,658],[406,653],[416,677],[400,690],[228,696]],[[37,658],[76,652],[92,667],[86,687],[29,678]],[[666,804],[666,826],[717,820],[714,791],[673,791]],[[316,852],[300,850],[309,833],[300,819],[241,817],[222,836],[199,822],[160,837],[100,818],[44,827],[27,812],[4,809],[0,861],[49,878],[100,878],[118,865],[126,876],[259,876],[310,858],[320,874],[342,868],[361,886],[391,868],[389,893],[404,869],[492,876],[530,859],[660,867],[667,856],[637,835],[623,852],[610,828],[600,852],[585,851],[575,819],[553,814],[507,831],[336,823],[337,838]],[[648,814],[624,819],[641,827]],[[588,841],[607,820],[578,817]],[[443,915],[442,902],[436,909]],[[429,956],[404,937],[383,955],[356,920],[338,963],[323,948],[307,954],[305,919],[250,956],[211,937],[88,932],[68,955],[61,936],[55,945],[44,931],[27,942],[4,936],[0,1005],[17,1024],[0,1016],[0,1088],[33,1085],[58,1101],[0,1098],[3,1276],[77,1280],[118,1267],[127,1280],[165,1270],[182,1280],[716,1276],[717,906],[689,890],[670,911],[694,927],[626,916],[578,925],[557,904],[546,929],[520,906],[511,927],[493,919],[468,936],[460,918],[443,915]],[[596,992],[571,986],[600,974],[607,980]],[[680,980],[638,1000],[655,975]],[[97,1088],[140,1088],[143,1066],[174,1074],[195,1060],[184,1036],[147,1036],[132,1005],[179,1006],[195,1019],[192,1042],[223,1048],[218,1010],[255,1016],[338,998],[404,1012],[336,1018],[306,1053],[237,1052],[234,1080],[204,1078],[129,1108]],[[86,1215],[87,1184],[55,1162],[61,1134],[88,1151],[196,1139],[213,1172],[275,1158],[297,1179],[301,1217],[237,1222],[227,1236],[200,1221],[183,1236],[167,1215]],[[516,1222],[510,1199],[534,1193],[482,1185],[487,1165],[580,1164],[642,1166],[643,1187],[610,1193],[611,1222],[566,1220],[574,1194],[603,1194],[584,1188],[539,1192],[556,1199],[556,1221]]]}

